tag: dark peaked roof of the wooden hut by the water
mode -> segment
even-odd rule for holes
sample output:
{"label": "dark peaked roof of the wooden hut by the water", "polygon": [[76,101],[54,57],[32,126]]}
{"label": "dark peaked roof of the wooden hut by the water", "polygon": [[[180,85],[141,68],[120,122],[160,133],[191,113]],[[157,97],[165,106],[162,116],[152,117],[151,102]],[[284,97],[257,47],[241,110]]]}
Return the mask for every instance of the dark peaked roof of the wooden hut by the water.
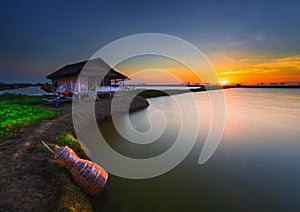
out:
{"label": "dark peaked roof of the wooden hut by the water", "polygon": [[65,77],[65,76],[78,76],[83,68],[84,68],[83,74],[85,75],[101,76],[101,73],[107,73],[109,70],[106,76],[109,76],[110,79],[123,79],[123,80],[129,79],[127,76],[112,69],[107,63],[105,63],[100,58],[66,65],[58,69],[57,71],[49,74],[47,76],[47,79],[54,79],[54,78]]}

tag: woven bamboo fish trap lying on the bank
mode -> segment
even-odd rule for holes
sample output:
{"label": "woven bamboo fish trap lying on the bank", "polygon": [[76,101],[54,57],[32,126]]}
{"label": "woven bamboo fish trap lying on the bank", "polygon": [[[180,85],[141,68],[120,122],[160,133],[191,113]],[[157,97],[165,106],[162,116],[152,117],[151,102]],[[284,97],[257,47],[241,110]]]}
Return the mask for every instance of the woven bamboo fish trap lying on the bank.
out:
{"label": "woven bamboo fish trap lying on the bank", "polygon": [[79,158],[68,146],[56,146],[53,150],[43,145],[54,155],[58,164],[67,168],[74,181],[88,194],[95,195],[104,187],[108,173],[96,163]]}

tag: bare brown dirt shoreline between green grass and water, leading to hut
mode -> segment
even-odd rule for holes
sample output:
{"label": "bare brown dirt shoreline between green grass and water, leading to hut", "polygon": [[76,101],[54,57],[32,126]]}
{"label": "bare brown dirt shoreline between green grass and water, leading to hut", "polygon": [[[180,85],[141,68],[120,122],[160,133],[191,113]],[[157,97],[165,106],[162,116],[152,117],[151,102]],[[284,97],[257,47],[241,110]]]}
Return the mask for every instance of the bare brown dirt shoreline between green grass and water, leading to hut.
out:
{"label": "bare brown dirt shoreline between green grass and water, leading to hut", "polygon": [[[96,102],[100,122],[110,119],[110,104],[110,99]],[[147,106],[143,97],[136,97],[130,110]],[[64,182],[52,171],[56,163],[39,149],[42,140],[55,143],[59,134],[74,133],[72,105],[45,107],[59,111],[60,115],[23,127],[0,141],[0,211],[58,210]]]}

